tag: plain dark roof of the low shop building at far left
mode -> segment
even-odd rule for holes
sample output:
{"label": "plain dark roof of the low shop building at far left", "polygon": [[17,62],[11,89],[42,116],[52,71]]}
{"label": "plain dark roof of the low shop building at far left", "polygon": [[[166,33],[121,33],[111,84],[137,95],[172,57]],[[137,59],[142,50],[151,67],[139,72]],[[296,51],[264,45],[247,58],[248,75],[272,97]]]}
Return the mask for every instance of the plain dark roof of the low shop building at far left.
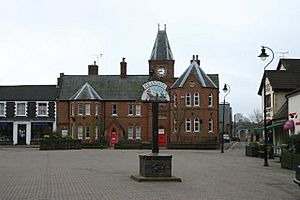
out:
{"label": "plain dark roof of the low shop building at far left", "polygon": [[0,86],[0,101],[49,101],[57,95],[56,85]]}

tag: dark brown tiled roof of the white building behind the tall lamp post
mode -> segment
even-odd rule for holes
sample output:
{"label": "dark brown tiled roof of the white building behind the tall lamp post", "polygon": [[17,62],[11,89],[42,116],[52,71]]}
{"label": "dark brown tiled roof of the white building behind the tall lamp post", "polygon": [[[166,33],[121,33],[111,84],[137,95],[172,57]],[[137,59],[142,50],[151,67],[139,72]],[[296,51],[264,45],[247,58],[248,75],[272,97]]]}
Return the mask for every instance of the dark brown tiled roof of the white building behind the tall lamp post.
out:
{"label": "dark brown tiled roof of the white building behind the tall lamp post", "polygon": [[[269,79],[273,90],[294,90],[300,87],[300,68],[266,70],[266,76]],[[259,95],[261,95],[263,89],[262,82],[258,91]]]}

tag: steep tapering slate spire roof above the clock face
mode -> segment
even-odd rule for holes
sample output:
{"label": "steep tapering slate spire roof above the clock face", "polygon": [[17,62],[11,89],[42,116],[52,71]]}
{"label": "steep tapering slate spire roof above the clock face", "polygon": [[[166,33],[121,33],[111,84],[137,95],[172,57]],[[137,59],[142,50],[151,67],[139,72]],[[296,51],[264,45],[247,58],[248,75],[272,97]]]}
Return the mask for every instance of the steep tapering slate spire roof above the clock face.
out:
{"label": "steep tapering slate spire roof above the clock face", "polygon": [[150,60],[174,60],[166,30],[158,30]]}

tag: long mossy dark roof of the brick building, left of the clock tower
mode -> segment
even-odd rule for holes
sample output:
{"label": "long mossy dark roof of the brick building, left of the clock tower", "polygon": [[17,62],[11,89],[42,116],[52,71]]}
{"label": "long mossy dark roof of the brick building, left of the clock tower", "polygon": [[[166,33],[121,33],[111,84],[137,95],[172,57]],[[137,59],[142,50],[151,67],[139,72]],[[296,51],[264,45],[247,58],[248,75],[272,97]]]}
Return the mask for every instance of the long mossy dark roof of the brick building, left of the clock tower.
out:
{"label": "long mossy dark roof of the brick building, left of the clock tower", "polygon": [[148,75],[65,75],[59,99],[69,100],[82,86],[89,83],[102,100],[136,100],[142,94],[142,85]]}

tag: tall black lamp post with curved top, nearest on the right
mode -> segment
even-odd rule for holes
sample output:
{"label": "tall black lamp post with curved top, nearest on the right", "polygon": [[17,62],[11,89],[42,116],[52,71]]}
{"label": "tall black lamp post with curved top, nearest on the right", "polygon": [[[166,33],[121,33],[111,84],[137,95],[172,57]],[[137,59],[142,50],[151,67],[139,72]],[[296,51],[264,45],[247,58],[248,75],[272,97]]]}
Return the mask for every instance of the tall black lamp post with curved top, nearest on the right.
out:
{"label": "tall black lamp post with curved top, nearest on the right", "polygon": [[269,166],[268,164],[268,152],[267,152],[267,145],[268,145],[268,136],[267,136],[267,96],[266,96],[266,68],[269,66],[269,64],[273,61],[274,59],[274,52],[271,48],[262,46],[261,47],[261,54],[258,56],[262,61],[265,61],[267,57],[269,57],[268,54],[266,54],[266,49],[270,50],[272,52],[272,59],[268,64],[264,67],[264,76],[263,76],[263,86],[264,86],[264,132],[265,132],[265,143],[264,143],[264,166]]}

